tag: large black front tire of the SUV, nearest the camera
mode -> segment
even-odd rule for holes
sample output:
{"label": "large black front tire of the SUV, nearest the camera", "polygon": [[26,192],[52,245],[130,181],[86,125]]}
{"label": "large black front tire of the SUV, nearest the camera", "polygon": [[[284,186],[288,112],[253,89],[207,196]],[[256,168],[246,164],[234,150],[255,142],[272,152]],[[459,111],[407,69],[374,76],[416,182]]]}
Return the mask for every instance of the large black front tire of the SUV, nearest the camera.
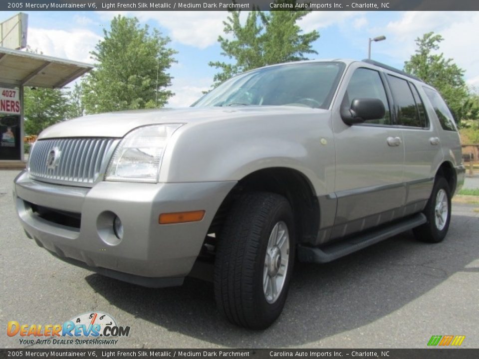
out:
{"label": "large black front tire of the SUV, nearest the camera", "polygon": [[[265,329],[281,314],[295,255],[293,223],[289,202],[275,193],[246,193],[233,204],[219,237],[214,275],[218,309],[230,322],[248,329]],[[273,227],[284,228],[284,224],[284,233],[289,233],[289,240],[283,240],[289,244],[289,251],[285,251],[287,265],[281,266],[281,271],[286,268],[284,282],[282,289],[276,291],[277,299],[268,303],[266,290],[263,291],[263,280],[269,276],[265,269],[269,268],[265,265],[266,249]],[[284,259],[281,255],[274,258],[276,265]],[[269,288],[272,293],[272,287]]]}

